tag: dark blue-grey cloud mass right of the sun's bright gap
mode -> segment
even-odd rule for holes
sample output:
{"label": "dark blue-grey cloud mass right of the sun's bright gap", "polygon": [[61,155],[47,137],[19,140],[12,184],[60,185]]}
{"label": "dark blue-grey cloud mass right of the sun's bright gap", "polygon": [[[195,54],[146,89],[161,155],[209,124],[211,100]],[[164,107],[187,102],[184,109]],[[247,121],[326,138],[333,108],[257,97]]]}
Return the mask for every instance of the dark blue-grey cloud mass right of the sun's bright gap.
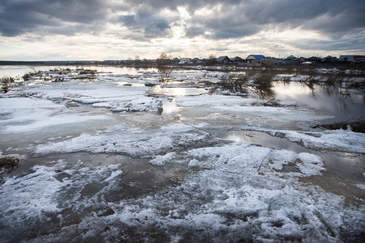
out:
{"label": "dark blue-grey cloud mass right of the sun's bright gap", "polygon": [[[303,27],[334,34],[365,27],[362,1],[241,1],[211,15],[193,15],[215,39],[250,36],[264,29]],[[187,33],[191,36],[190,29]]]}

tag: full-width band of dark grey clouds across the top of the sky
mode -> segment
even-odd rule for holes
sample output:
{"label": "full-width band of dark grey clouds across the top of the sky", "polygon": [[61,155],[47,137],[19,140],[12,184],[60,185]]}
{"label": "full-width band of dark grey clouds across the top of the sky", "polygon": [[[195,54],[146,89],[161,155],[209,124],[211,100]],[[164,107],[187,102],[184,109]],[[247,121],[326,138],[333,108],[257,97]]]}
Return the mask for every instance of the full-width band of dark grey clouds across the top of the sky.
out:
{"label": "full-width band of dark grey clouds across the top of the sky", "polygon": [[[186,8],[191,18],[180,19],[178,7]],[[197,11],[201,8],[207,11]],[[118,15],[120,11],[124,14]],[[145,40],[169,37],[170,29],[184,21],[188,38],[227,39],[296,27],[338,38],[363,30],[364,12],[362,0],[0,0],[0,32],[73,35],[97,33],[117,23],[130,30],[127,37]]]}

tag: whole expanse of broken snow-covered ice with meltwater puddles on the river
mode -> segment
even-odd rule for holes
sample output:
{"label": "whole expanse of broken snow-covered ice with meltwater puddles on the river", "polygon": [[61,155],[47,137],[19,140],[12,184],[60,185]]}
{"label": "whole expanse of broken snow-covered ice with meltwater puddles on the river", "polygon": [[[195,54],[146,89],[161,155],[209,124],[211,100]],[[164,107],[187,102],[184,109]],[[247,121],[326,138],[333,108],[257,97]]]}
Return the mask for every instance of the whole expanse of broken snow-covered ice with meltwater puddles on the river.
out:
{"label": "whole expanse of broken snow-covered ice with meltwater puddles on the river", "polygon": [[0,155],[23,160],[0,171],[0,242],[362,242],[365,135],[310,128],[338,116],[320,95],[252,105],[267,99],[212,90],[211,73],[35,76],[1,94]]}

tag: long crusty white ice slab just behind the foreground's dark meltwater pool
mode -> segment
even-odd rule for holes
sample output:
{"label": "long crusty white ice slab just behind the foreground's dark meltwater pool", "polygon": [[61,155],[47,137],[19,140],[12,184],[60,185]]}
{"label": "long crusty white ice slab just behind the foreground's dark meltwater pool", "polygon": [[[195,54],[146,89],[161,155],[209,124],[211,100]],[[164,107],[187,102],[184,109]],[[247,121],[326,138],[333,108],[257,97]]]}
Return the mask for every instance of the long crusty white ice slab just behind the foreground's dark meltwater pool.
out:
{"label": "long crusty white ice slab just behind the foreground's dark meltwater pool", "polygon": [[104,131],[81,134],[58,143],[41,144],[35,154],[65,153],[76,151],[117,152],[135,158],[150,158],[170,151],[181,151],[191,146],[219,143],[207,132],[196,130],[181,122],[148,128],[148,133],[134,125],[124,123]]}

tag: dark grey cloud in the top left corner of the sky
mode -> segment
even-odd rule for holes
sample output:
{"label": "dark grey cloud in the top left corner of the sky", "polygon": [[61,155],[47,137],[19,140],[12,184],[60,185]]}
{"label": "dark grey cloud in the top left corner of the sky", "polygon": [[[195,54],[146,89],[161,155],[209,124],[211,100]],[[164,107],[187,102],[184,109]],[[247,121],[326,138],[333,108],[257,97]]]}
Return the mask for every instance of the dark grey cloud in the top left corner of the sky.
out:
{"label": "dark grey cloud in the top left corner of the sky", "polygon": [[[109,7],[99,0],[1,0],[0,32],[3,36],[17,36],[47,28],[62,29],[68,24],[83,24],[87,28],[88,24],[104,20]],[[72,35],[74,31],[60,32]]]}

